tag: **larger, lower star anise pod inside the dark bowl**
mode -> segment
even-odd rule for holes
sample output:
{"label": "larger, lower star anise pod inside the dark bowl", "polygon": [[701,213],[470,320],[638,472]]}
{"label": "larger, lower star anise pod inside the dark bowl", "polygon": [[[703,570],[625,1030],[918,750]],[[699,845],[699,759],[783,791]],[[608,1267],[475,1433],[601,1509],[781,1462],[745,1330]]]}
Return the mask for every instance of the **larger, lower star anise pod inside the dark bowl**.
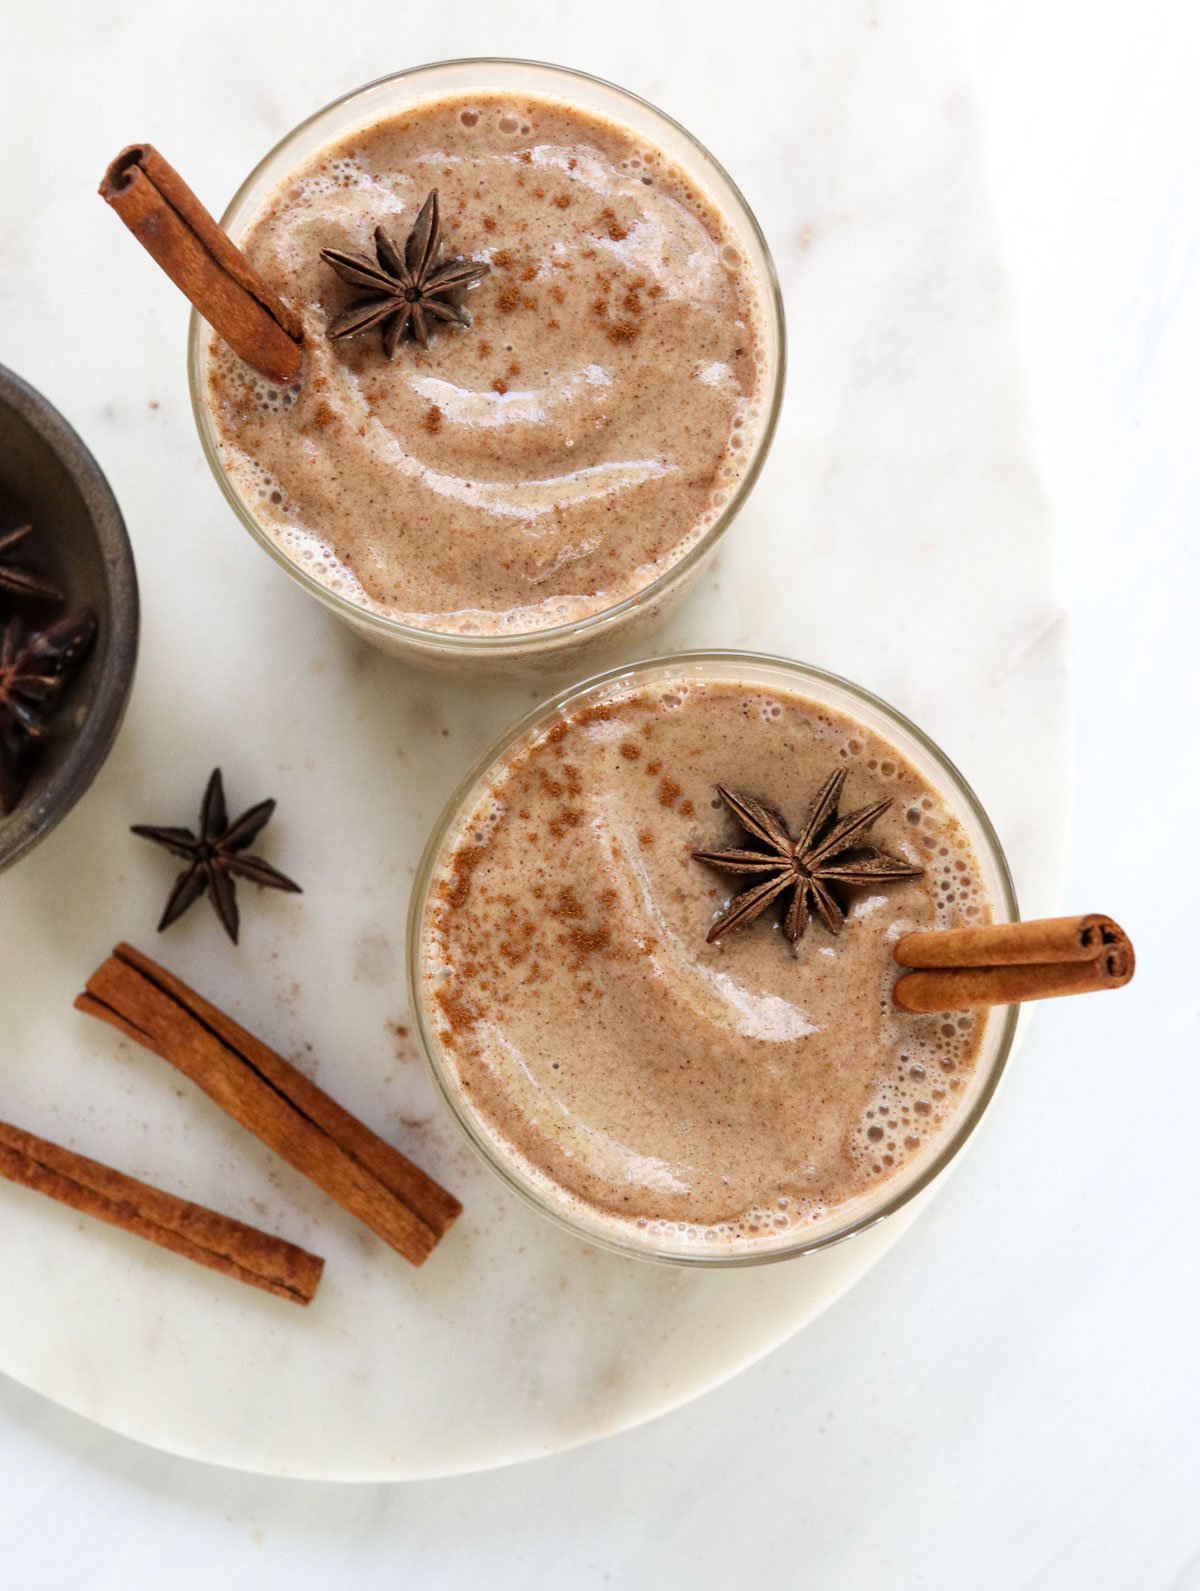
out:
{"label": "larger, lower star anise pod inside the dark bowl", "polygon": [[13,811],[40,741],[80,659],[92,644],[89,608],[25,636],[10,619],[0,636],[0,813]]}

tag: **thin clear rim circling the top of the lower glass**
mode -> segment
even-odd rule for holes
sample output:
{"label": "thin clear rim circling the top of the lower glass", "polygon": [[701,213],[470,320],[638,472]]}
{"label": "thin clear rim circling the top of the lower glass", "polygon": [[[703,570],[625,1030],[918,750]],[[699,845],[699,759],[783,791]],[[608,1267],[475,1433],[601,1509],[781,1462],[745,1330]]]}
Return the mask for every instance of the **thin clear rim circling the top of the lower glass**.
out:
{"label": "thin clear rim circling the top of the lower glass", "polygon": [[[834,687],[848,692],[851,697],[863,702],[866,706],[879,711],[890,724],[898,725],[904,733],[910,735],[917,745],[928,753],[937,764],[939,772],[947,776],[949,784],[953,788],[955,794],[960,797],[963,807],[969,811],[971,818],[979,826],[984,837],[984,843],[988,851],[988,859],[996,870],[999,881],[999,901],[996,905],[1003,908],[1007,921],[1019,921],[1020,910],[1017,905],[1017,893],[1012,883],[1012,872],[1009,869],[1007,856],[999,843],[999,835],[995,831],[992,819],[980,799],[976,796],[971,784],[966,781],[960,768],[950,757],[941,749],[941,746],[929,737],[923,729],[912,722],[899,708],[885,702],[882,697],[867,690],[864,686],[856,684],[853,679],[847,679],[842,675],[831,673],[826,668],[818,668],[813,663],[801,663],[791,657],[780,657],[770,652],[750,652],[737,648],[708,648],[695,651],[680,651],[680,652],[664,652],[657,657],[645,657],[632,663],[621,663],[614,668],[606,668],[603,673],[592,675],[590,678],[568,686],[559,690],[549,700],[543,702],[540,706],[533,708],[530,713],[522,714],[522,718],[512,724],[482,756],[479,756],[471,768],[463,775],[463,778],[455,786],[454,792],[442,807],[438,821],[433,826],[430,838],[425,843],[425,850],[417,867],[417,873],[412,883],[412,894],[409,899],[407,913],[407,947],[406,947],[406,964],[407,964],[407,993],[409,993],[409,1010],[412,1021],[417,1029],[417,1037],[420,1041],[422,1056],[425,1060],[427,1071],[433,1077],[438,1093],[444,1099],[450,1111],[450,1115],[458,1123],[458,1128],[466,1134],[468,1141],[473,1144],[476,1152],[482,1160],[495,1171],[503,1182],[508,1184],[516,1193],[519,1193],[525,1203],[532,1204],[543,1216],[549,1217],[557,1227],[573,1233],[586,1243],[594,1243],[602,1249],[608,1249],[614,1254],[622,1254],[629,1258],[649,1260],[653,1263],[662,1265],[684,1265],[684,1266],[708,1266],[708,1268],[740,1268],[750,1265],[772,1265],[780,1260],[796,1258],[804,1254],[816,1254],[823,1249],[829,1249],[837,1243],[844,1243],[848,1238],[856,1236],[861,1231],[867,1231],[871,1227],[879,1225],[888,1217],[894,1216],[898,1211],[904,1209],[906,1204],[912,1203],[920,1193],[923,1193],[955,1160],[958,1152],[972,1136],[974,1130],[979,1126],[988,1104],[992,1103],[999,1079],[1007,1066],[1009,1055],[1012,1052],[1012,1042],[1017,1033],[1017,1018],[1020,1013],[1019,1006],[1007,1006],[999,1015],[999,1034],[995,1041],[995,1050],[988,1061],[987,1076],[982,1079],[976,1098],[971,1101],[969,1107],[963,1111],[961,1117],[953,1123],[953,1130],[945,1136],[945,1139],[937,1146],[936,1153],[931,1153],[928,1161],[920,1166],[920,1169],[907,1181],[901,1181],[896,1190],[886,1198],[879,1208],[864,1211],[861,1216],[847,1220],[842,1225],[834,1225],[826,1233],[818,1233],[812,1238],[797,1236],[794,1243],[780,1244],[775,1249],[764,1249],[762,1252],[743,1251],[743,1252],[708,1252],[697,1249],[694,1254],[684,1252],[657,1252],[653,1247],[638,1247],[632,1243],[622,1241],[619,1236],[610,1236],[603,1231],[594,1231],[590,1227],[584,1227],[582,1222],[573,1220],[562,1208],[544,1198],[536,1187],[525,1181],[514,1168],[514,1165],[505,1158],[495,1144],[492,1144],[484,1133],[476,1126],[471,1115],[462,1106],[457,1091],[450,1087],[446,1077],[444,1068],[439,1060],[439,1045],[430,1033],[427,1021],[425,1002],[420,998],[422,986],[422,939],[423,939],[423,921],[425,908],[428,902],[430,886],[433,881],[433,869],[450,832],[452,824],[458,818],[468,797],[473,794],[481,778],[487,770],[498,762],[506,753],[525,735],[535,730],[541,722],[559,714],[573,703],[576,698],[582,700],[592,692],[602,689],[603,686],[622,679],[637,678],[640,675],[651,673],[656,668],[667,667],[689,667],[689,665],[711,665],[711,663],[742,663],[753,667],[780,668],[785,673],[796,676],[797,683],[804,679],[818,683],[824,687]],[[551,1179],[552,1181],[552,1179]]]}

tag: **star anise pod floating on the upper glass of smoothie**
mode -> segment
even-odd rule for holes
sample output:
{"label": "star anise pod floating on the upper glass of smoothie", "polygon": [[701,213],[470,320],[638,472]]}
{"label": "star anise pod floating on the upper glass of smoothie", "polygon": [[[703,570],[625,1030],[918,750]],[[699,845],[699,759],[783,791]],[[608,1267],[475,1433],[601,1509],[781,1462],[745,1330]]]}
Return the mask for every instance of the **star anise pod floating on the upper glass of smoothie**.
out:
{"label": "star anise pod floating on the upper glass of smoothie", "polygon": [[323,248],[321,259],[333,266],[342,282],[368,290],[366,298],[355,299],[329,321],[328,336],[334,340],[356,337],[360,331],[379,326],[384,353],[392,358],[406,331],[412,333],[422,348],[428,348],[431,321],[469,326],[471,317],[455,302],[455,294],[479,282],[492,267],[482,259],[439,263],[439,250],[436,188],[420,207],[403,251],[382,226],[376,228],[374,261],[349,250]]}

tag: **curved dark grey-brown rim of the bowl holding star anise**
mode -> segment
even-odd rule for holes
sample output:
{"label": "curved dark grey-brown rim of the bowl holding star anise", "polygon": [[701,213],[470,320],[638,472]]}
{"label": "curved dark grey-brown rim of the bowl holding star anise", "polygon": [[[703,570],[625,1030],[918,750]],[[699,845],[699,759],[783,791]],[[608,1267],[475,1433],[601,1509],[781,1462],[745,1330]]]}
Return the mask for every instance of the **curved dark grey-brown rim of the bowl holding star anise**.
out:
{"label": "curved dark grey-brown rim of the bowl holding star anise", "polygon": [[134,549],[124,515],[105,473],[83,438],[48,398],[5,364],[0,364],[0,407],[16,414],[41,438],[62,473],[80,492],[100,547],[107,590],[105,611],[97,614],[102,651],[97,659],[92,708],[37,800],[29,803],[19,800],[3,819],[3,840],[0,840],[0,870],[3,870],[21,856],[27,856],[67,816],[103,767],[134,684],[140,600]]}

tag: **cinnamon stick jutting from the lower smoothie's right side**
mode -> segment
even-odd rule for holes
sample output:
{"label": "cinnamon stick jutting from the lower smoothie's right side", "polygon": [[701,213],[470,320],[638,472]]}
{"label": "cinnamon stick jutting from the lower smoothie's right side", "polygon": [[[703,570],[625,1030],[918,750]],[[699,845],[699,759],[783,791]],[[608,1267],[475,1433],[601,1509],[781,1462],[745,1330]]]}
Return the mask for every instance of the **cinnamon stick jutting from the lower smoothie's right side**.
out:
{"label": "cinnamon stick jutting from the lower smoothie's right side", "polygon": [[969,1010],[1114,990],[1133,977],[1128,936],[1112,918],[1055,916],[906,934],[894,958],[917,971],[893,998],[910,1012]]}

